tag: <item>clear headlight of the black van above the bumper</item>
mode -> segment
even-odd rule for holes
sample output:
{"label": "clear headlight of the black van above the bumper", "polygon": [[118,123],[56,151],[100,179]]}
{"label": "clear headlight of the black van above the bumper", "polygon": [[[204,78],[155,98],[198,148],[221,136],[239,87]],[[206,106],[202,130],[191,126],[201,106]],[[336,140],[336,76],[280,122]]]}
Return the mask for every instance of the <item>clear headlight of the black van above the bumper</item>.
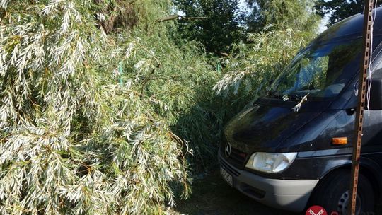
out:
{"label": "clear headlight of the black van above the bumper", "polygon": [[246,168],[265,173],[279,173],[291,165],[297,153],[265,153],[256,152],[250,156]]}

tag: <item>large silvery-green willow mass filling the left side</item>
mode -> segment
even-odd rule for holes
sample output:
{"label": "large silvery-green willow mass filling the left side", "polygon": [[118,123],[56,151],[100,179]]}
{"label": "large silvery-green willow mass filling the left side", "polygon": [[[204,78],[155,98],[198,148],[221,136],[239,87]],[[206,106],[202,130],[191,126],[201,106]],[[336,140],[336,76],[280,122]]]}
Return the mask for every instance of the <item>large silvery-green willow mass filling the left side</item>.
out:
{"label": "large silvery-green willow mass filling the left side", "polygon": [[157,22],[168,1],[121,2],[0,1],[0,214],[162,214],[187,196],[170,126],[216,77]]}

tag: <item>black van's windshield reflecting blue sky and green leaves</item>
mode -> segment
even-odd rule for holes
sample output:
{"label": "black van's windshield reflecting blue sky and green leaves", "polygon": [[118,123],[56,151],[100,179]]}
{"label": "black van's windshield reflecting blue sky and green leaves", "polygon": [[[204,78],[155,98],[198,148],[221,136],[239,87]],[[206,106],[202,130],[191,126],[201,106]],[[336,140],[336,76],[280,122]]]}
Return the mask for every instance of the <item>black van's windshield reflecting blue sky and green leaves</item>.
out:
{"label": "black van's windshield reflecting blue sky and green leaves", "polygon": [[362,40],[311,44],[297,54],[272,84],[272,91],[287,98],[332,98],[359,70]]}

